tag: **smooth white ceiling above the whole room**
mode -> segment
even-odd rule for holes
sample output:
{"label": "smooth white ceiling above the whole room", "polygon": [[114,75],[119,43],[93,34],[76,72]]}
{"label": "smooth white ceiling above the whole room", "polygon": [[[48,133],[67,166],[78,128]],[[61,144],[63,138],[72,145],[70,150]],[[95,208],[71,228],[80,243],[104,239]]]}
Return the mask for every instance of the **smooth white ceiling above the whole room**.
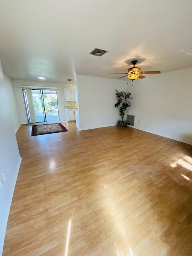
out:
{"label": "smooth white ceiling above the whole room", "polygon": [[[89,53],[107,50],[102,57]],[[66,82],[192,67],[191,0],[0,0],[0,58],[13,79]]]}

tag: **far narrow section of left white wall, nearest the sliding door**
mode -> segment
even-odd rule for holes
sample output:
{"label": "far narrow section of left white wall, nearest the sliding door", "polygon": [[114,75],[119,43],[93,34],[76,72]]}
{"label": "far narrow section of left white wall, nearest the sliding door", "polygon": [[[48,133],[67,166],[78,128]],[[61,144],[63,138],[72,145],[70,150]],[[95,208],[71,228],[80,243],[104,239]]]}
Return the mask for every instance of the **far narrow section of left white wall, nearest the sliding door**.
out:
{"label": "far narrow section of left white wall, nearest the sliding door", "polygon": [[17,112],[17,106],[16,106],[16,100],[15,100],[15,95],[14,95],[14,88],[13,88],[13,83],[12,80],[9,76],[7,76],[4,73],[4,80],[6,83],[6,90],[8,92],[8,98],[9,98],[9,102],[10,102],[10,107],[11,107],[11,119],[14,125],[14,130],[15,133],[17,132],[19,126],[20,126],[20,122],[19,122],[19,118],[18,118],[18,112]]}

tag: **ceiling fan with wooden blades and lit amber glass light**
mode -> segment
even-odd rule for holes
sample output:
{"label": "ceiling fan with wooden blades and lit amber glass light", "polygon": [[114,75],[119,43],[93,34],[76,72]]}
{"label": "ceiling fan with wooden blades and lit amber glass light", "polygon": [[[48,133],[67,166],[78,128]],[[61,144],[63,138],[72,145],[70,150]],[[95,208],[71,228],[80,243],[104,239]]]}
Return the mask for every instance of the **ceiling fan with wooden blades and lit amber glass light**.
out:
{"label": "ceiling fan with wooden blades and lit amber glass light", "polygon": [[[120,78],[127,76],[130,80],[133,81],[137,78],[141,78],[141,79],[145,78],[145,76],[143,76],[142,74],[159,74],[160,73],[160,71],[141,71],[140,72],[140,68],[135,67],[137,60],[132,60],[131,63],[133,64],[133,67],[128,69],[128,73],[110,73],[110,75],[124,74],[125,76],[121,76]],[[118,79],[120,79],[120,78],[118,78]]]}

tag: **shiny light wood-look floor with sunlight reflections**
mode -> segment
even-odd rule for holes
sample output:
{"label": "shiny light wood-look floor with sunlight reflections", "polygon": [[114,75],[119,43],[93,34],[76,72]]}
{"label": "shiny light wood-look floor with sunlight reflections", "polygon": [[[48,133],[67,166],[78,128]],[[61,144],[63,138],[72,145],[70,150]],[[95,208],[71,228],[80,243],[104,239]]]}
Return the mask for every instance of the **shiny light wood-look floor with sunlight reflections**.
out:
{"label": "shiny light wood-look floor with sunlight reflections", "polygon": [[3,256],[191,256],[192,146],[133,128],[31,137]]}

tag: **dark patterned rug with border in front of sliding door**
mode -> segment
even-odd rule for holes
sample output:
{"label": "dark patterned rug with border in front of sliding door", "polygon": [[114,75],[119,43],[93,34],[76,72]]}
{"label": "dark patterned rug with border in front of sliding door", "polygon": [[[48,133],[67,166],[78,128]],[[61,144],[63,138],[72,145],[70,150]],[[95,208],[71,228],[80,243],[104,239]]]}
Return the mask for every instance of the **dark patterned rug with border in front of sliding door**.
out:
{"label": "dark patterned rug with border in front of sliding door", "polygon": [[31,136],[56,132],[68,132],[68,130],[61,123],[33,125]]}

